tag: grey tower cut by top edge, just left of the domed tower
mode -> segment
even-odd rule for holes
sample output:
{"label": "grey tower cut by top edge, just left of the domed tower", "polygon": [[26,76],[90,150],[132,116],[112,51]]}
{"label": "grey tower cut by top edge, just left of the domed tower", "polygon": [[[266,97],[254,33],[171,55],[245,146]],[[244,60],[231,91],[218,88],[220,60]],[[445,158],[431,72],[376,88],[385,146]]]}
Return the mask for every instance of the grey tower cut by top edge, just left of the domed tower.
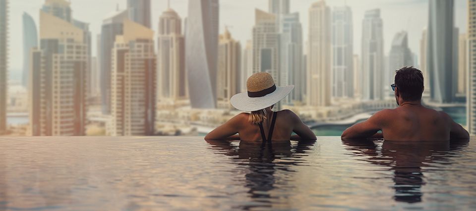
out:
{"label": "grey tower cut by top edge, just left of the domed tower", "polygon": [[129,19],[147,28],[150,24],[150,0],[127,0]]}

